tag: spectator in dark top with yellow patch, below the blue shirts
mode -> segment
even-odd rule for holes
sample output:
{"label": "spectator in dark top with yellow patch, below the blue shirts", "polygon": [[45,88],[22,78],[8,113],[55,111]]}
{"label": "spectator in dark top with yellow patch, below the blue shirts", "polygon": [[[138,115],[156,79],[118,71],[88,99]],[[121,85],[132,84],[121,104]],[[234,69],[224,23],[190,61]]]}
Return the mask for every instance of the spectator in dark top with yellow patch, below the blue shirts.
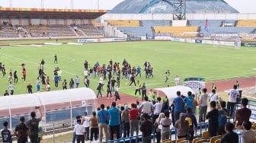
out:
{"label": "spectator in dark top with yellow patch, below the blue shirts", "polygon": [[187,113],[185,114],[185,120],[188,122],[189,128],[187,132],[187,139],[193,141],[194,131],[197,131],[197,119],[190,107],[187,107]]}

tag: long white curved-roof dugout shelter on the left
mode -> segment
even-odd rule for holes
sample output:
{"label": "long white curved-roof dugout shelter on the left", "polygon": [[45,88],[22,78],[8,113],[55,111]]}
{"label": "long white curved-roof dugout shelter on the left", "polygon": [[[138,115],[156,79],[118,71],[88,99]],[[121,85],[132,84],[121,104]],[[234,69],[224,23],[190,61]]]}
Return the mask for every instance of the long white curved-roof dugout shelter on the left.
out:
{"label": "long white curved-roof dugout shelter on the left", "polygon": [[40,106],[44,124],[65,121],[72,126],[75,116],[85,112],[90,115],[97,108],[97,97],[87,87],[0,97],[0,124],[7,121],[10,128],[14,128],[21,116],[26,121],[32,111],[38,116],[40,113],[35,106]]}

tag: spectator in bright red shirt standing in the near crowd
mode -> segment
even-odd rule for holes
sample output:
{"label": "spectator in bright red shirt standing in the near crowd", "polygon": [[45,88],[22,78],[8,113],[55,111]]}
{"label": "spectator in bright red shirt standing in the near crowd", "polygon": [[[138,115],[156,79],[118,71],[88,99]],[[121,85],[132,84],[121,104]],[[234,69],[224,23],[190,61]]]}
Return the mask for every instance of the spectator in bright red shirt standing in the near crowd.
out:
{"label": "spectator in bright red shirt standing in the near crowd", "polygon": [[133,132],[136,131],[136,135],[139,134],[139,121],[137,120],[139,116],[139,110],[136,109],[134,103],[131,104],[132,109],[129,110],[129,120],[130,120],[130,136],[133,136]]}

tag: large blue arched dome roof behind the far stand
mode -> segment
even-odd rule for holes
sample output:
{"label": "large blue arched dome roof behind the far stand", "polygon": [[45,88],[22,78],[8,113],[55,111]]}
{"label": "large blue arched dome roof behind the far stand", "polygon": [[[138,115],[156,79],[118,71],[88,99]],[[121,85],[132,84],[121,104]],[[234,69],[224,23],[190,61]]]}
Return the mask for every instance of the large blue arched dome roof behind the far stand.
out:
{"label": "large blue arched dome roof behind the far stand", "polygon": [[[172,14],[174,0],[125,0],[114,7],[109,13],[114,14]],[[223,0],[186,0],[187,13],[238,13]]]}

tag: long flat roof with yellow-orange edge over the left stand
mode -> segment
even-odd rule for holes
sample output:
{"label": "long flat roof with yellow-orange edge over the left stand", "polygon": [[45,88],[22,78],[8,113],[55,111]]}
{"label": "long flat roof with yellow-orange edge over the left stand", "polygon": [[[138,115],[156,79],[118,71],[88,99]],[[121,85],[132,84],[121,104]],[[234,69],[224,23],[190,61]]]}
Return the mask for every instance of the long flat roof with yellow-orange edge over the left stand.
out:
{"label": "long flat roof with yellow-orange edge over the left stand", "polygon": [[95,19],[107,10],[49,9],[49,8],[0,8],[1,18],[31,19]]}

